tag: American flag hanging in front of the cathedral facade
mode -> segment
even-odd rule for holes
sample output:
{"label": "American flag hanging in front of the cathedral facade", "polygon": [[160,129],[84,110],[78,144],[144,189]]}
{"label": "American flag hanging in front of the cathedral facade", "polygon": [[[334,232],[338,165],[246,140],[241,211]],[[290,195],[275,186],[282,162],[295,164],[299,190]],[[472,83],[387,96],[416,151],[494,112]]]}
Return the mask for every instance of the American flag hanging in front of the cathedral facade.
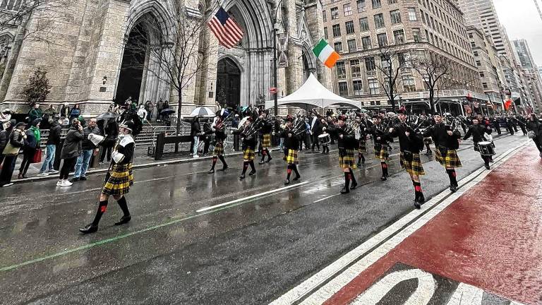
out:
{"label": "American flag hanging in front of the cathedral facade", "polygon": [[212,33],[217,37],[219,44],[227,49],[231,49],[243,39],[243,30],[241,30],[234,18],[231,18],[224,11],[222,6],[207,25],[209,25]]}

